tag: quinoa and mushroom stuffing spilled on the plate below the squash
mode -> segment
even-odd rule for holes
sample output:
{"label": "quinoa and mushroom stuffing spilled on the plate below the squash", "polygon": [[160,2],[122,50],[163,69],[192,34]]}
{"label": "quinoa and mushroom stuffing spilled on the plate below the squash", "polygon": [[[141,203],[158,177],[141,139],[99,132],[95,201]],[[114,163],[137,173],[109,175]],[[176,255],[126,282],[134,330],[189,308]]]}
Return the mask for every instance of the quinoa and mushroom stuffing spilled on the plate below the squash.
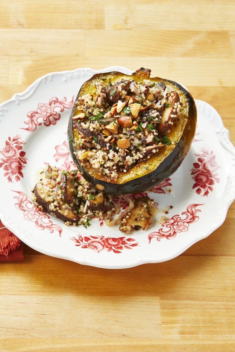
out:
{"label": "quinoa and mushroom stuffing spilled on the plate below the squash", "polygon": [[94,218],[104,219],[107,226],[117,225],[129,233],[151,225],[149,197],[135,195],[111,196],[100,193],[84,180],[78,170],[66,171],[48,166],[40,173],[40,181],[33,190],[33,201],[64,221],[66,225],[91,225]]}

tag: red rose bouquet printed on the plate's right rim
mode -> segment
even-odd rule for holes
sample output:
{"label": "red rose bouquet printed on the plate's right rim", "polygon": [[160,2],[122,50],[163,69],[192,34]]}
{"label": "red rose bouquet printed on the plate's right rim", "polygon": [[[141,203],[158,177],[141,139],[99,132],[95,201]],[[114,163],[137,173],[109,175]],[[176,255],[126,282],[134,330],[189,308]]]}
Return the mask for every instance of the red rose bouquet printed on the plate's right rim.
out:
{"label": "red rose bouquet printed on the plate's right rim", "polygon": [[213,191],[213,185],[215,182],[219,183],[218,174],[216,171],[220,168],[215,161],[216,156],[213,151],[209,152],[205,148],[201,149],[200,154],[195,154],[198,157],[197,163],[193,163],[193,168],[190,170],[192,179],[194,180],[193,188],[196,189],[197,194],[201,194],[202,190],[204,194],[202,196],[208,196],[209,191]]}

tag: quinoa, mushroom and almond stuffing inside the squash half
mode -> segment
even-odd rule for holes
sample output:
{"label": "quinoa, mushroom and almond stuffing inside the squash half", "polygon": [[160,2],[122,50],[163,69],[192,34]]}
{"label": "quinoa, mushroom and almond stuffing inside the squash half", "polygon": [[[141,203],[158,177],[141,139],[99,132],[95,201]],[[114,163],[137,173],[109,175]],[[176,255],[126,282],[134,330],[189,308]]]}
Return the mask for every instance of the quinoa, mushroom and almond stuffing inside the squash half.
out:
{"label": "quinoa, mushroom and almond stuffing inside the squash half", "polygon": [[76,101],[76,157],[107,182],[117,182],[138,163],[178,143],[167,137],[183,111],[179,94],[162,82],[97,78],[93,94]]}

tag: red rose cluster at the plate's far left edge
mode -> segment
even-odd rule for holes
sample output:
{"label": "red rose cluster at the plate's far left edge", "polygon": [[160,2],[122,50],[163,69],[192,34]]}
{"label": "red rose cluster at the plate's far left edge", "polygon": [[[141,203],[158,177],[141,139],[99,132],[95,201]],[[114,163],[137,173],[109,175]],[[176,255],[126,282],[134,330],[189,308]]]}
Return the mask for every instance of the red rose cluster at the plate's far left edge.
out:
{"label": "red rose cluster at the plate's far left edge", "polygon": [[24,144],[19,135],[8,137],[5,147],[0,151],[2,155],[0,168],[3,166],[3,170],[6,171],[4,176],[7,177],[8,182],[14,182],[13,179],[18,182],[20,177],[24,177],[22,170],[27,164],[25,152],[22,150]]}

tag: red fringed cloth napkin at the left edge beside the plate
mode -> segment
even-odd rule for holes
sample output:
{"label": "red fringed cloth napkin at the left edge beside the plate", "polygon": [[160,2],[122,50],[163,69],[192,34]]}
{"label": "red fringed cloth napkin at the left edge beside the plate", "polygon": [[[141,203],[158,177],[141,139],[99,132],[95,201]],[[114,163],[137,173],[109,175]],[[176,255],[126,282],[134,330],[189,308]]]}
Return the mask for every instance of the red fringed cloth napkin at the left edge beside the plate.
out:
{"label": "red fringed cloth napkin at the left edge beside the plate", "polygon": [[23,242],[9,231],[0,220],[0,263],[24,259]]}

